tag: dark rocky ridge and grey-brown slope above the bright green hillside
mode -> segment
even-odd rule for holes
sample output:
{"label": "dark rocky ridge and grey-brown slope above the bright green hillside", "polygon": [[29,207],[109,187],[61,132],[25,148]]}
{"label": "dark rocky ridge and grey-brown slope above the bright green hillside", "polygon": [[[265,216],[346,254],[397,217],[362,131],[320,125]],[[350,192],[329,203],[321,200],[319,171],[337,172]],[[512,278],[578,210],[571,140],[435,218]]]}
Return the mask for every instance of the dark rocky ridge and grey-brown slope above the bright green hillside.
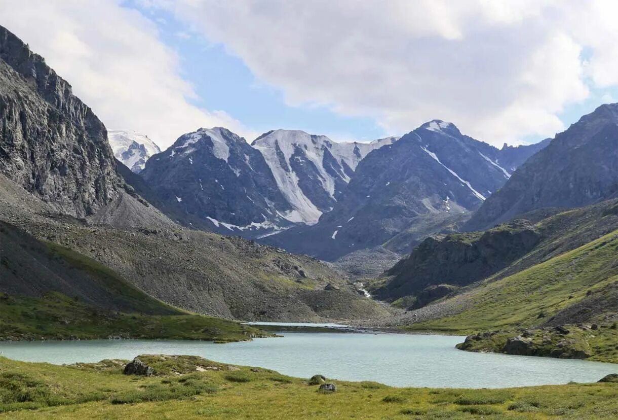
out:
{"label": "dark rocky ridge and grey-brown slope above the bright green hillside", "polygon": [[436,293],[437,285],[450,286],[443,288],[448,292],[486,278],[499,280],[616,229],[618,200],[533,212],[485,232],[428,238],[368,289],[379,299],[415,309],[445,296]]}

